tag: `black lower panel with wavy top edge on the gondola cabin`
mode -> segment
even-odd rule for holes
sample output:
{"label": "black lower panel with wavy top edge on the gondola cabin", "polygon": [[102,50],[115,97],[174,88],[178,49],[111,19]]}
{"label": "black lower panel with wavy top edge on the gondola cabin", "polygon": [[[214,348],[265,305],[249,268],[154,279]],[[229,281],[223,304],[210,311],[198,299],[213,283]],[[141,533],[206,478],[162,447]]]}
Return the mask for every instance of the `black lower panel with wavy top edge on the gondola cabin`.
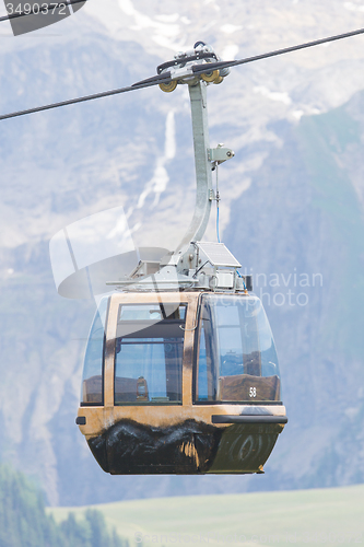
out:
{"label": "black lower panel with wavy top edge on the gondola cabin", "polygon": [[281,430],[277,424],[216,428],[195,420],[154,428],[120,420],[89,445],[113,475],[257,473]]}

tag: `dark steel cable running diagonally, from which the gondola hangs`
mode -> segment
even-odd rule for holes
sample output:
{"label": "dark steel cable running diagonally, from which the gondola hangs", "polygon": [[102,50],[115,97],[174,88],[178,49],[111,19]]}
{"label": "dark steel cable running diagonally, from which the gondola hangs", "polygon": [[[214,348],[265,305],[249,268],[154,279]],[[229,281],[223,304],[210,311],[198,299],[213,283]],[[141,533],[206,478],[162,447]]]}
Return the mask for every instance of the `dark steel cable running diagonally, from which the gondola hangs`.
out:
{"label": "dark steel cable running diagonally, from which the gondola hangs", "polygon": [[[73,0],[70,3],[75,3],[78,1],[81,1],[81,0]],[[82,0],[82,1],[85,1],[85,0]],[[283,49],[277,49],[275,51],[270,51],[268,54],[257,55],[255,57],[247,57],[245,59],[233,60],[233,61],[209,62],[209,71],[213,71],[213,70],[216,70],[216,69],[228,68],[228,67],[236,67],[238,65],[246,65],[248,62],[257,61],[257,60],[260,60],[260,59],[267,59],[268,57],[275,57],[278,55],[283,55],[283,54],[287,54],[287,53],[291,53],[291,51],[296,51],[298,49],[304,49],[304,48],[307,48],[307,47],[313,47],[313,46],[318,46],[320,44],[326,44],[328,42],[334,42],[334,40],[342,39],[342,38],[349,38],[351,36],[356,36],[359,34],[364,34],[364,28],[359,28],[357,31],[352,31],[352,32],[349,32],[349,33],[339,34],[339,35],[336,35],[336,36],[329,36],[327,38],[316,39],[314,42],[307,42],[306,44],[301,44],[301,45],[297,45],[297,46],[286,47],[286,48],[283,48]],[[196,65],[196,66],[192,67],[192,72],[196,73],[196,74],[200,74],[200,73],[206,72],[206,68],[207,68],[206,63]],[[95,100],[95,98],[102,98],[102,97],[107,97],[107,96],[111,96],[111,95],[118,95],[120,93],[126,93],[128,91],[133,91],[133,90],[140,90],[142,88],[150,88],[152,85],[157,85],[160,83],[168,83],[172,80],[173,80],[173,78],[171,77],[171,72],[163,72],[160,75],[154,75],[152,78],[148,78],[146,80],[142,80],[141,82],[137,82],[133,85],[129,85],[128,88],[120,88],[120,89],[117,89],[117,90],[105,91],[103,93],[96,93],[94,95],[86,95],[84,97],[71,98],[69,101],[61,101],[59,103],[54,103],[54,104],[49,104],[49,105],[45,105],[45,106],[38,106],[36,108],[28,108],[26,110],[19,110],[19,112],[14,112],[14,113],[11,113],[11,114],[5,114],[3,116],[0,116],[0,121],[3,120],[3,119],[15,118],[17,116],[24,116],[26,114],[33,114],[33,113],[36,113],[36,112],[49,110],[51,108],[58,108],[59,106],[68,106],[68,105],[71,105],[71,104],[83,103],[85,101],[92,101],[92,100]]]}

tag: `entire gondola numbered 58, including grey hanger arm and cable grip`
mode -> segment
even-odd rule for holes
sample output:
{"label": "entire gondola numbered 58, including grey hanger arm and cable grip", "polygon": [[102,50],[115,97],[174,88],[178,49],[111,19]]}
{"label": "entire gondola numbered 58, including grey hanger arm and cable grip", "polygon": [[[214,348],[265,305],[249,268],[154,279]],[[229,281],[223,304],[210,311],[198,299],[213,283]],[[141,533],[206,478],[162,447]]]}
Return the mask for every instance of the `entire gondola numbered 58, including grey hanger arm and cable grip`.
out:
{"label": "entire gondola numbered 58, including grey hanger arm and cable grip", "polygon": [[[234,156],[210,149],[207,86],[228,69],[197,43],[157,73],[190,94],[197,201],[180,244],[140,260],[102,299],[87,342],[77,418],[110,474],[262,473],[287,419],[270,326],[250,279],[223,243],[201,242],[219,188],[212,171]],[[206,71],[193,74],[192,68]]]}

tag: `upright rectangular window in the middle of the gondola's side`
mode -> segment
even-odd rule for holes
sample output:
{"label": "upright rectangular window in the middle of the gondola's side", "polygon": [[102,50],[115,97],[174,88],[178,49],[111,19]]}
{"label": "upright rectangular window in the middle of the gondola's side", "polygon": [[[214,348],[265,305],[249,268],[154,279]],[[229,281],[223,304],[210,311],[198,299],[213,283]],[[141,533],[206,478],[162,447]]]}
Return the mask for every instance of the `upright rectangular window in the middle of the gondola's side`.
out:
{"label": "upright rectangular window in the middle of the gondola's side", "polygon": [[121,304],[115,405],[181,404],[186,304]]}

